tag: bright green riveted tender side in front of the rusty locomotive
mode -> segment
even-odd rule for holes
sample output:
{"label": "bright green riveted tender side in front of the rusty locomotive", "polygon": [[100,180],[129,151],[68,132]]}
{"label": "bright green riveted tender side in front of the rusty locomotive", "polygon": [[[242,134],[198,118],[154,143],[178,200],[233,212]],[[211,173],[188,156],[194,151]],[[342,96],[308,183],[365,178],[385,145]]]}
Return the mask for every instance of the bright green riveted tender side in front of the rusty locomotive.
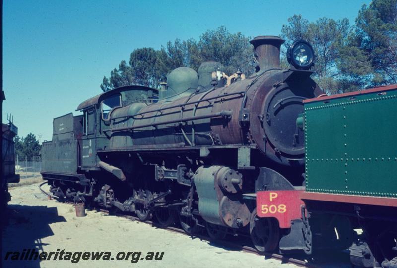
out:
{"label": "bright green riveted tender side in front of the rusty locomotive", "polygon": [[305,104],[306,191],[397,197],[397,90]]}

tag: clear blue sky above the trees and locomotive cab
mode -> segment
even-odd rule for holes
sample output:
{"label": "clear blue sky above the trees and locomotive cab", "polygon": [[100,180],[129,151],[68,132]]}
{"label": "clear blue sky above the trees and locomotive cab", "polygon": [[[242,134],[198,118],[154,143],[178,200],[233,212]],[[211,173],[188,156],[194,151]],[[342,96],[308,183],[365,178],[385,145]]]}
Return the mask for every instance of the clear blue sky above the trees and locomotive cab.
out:
{"label": "clear blue sky above the trees and locomotive cab", "polygon": [[247,36],[279,35],[302,14],[354,23],[369,0],[4,0],[3,120],[11,113],[19,135],[52,137],[54,117],[101,93],[103,76],[133,49],[198,39],[224,25]]}

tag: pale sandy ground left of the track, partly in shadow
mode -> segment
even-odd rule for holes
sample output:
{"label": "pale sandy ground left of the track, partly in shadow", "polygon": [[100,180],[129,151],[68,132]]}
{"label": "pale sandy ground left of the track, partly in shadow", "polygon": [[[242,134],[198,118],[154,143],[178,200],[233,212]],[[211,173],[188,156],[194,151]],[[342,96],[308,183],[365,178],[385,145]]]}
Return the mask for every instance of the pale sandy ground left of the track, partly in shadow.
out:
{"label": "pale sandy ground left of the track, partly in shadow", "polygon": [[[72,205],[47,200],[39,183],[11,188],[8,224],[3,230],[4,259],[8,251],[37,249],[41,251],[110,251],[112,257],[120,252],[164,252],[162,260],[80,261],[66,260],[3,261],[3,267],[264,267],[296,268],[292,264],[265,259],[263,256],[223,248],[199,238],[155,228],[126,218],[87,211],[78,218]],[[45,186],[44,189],[48,190]],[[134,255],[136,258],[137,255]],[[10,257],[9,257],[10,258]]]}

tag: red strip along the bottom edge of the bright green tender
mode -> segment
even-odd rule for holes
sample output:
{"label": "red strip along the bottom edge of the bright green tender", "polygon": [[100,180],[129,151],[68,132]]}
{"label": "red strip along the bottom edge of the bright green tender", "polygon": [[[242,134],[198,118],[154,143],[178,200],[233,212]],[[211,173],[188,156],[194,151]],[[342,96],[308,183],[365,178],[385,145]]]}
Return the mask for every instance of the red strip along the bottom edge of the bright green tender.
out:
{"label": "red strip along the bottom edge of the bright green tender", "polygon": [[339,203],[397,207],[397,198],[323,194],[323,193],[311,193],[311,192],[302,192],[300,197],[301,199],[304,200],[317,200],[317,201],[329,201],[329,202],[339,202]]}

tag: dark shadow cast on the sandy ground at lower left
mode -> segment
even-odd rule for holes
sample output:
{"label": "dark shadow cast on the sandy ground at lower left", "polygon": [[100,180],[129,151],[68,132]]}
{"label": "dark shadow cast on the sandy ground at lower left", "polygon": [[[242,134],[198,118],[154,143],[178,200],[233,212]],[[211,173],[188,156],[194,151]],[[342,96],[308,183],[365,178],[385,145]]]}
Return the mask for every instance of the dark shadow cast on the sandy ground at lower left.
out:
{"label": "dark shadow cast on the sandy ground at lower left", "polygon": [[[54,235],[49,224],[66,222],[66,219],[58,215],[56,207],[47,206],[8,205],[3,215],[6,217],[2,219],[2,266],[40,267],[39,258],[19,260],[23,250],[43,251],[43,246],[47,244],[42,243],[41,239]],[[8,254],[8,260],[4,260],[7,252],[19,252],[18,260],[11,260],[17,257],[14,253]]]}

